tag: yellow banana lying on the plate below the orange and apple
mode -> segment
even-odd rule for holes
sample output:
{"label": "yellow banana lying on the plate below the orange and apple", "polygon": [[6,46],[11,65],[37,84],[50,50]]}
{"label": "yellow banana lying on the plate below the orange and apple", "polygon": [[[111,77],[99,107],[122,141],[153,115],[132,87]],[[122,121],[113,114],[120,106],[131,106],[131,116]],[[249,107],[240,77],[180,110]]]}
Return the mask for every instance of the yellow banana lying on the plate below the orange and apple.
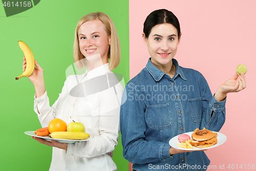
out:
{"label": "yellow banana lying on the plate below the orange and apple", "polygon": [[86,132],[56,131],[49,135],[52,138],[64,140],[86,140],[90,137]]}

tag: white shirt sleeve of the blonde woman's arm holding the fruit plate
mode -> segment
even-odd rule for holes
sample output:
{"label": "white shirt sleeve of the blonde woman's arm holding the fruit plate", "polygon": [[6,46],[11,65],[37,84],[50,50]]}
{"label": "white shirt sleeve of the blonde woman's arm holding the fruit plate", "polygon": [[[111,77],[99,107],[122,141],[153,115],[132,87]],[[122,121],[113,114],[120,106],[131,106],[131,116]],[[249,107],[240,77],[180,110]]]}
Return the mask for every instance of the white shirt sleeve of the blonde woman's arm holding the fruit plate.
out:
{"label": "white shirt sleeve of the blonde woman's arm holding the fruit plate", "polygon": [[99,136],[90,137],[90,140],[86,142],[68,144],[67,155],[92,158],[112,153],[115,149],[119,139],[123,87],[120,83],[114,87],[104,90],[100,96]]}

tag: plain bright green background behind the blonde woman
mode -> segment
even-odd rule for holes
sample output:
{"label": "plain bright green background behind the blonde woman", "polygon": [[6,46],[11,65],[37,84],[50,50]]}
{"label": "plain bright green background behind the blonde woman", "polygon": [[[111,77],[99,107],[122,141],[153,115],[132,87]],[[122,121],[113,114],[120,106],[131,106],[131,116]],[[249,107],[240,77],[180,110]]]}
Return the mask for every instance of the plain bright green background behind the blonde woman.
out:
{"label": "plain bright green background behind the blonde woman", "polygon": [[[108,14],[115,23],[120,44],[121,62],[114,72],[129,81],[129,1],[40,1],[35,7],[6,17],[0,7],[1,55],[1,170],[49,170],[52,147],[40,144],[24,134],[40,128],[33,110],[34,86],[27,78],[15,80],[22,71],[22,40],[33,51],[44,69],[46,89],[52,105],[66,80],[66,69],[73,64],[75,27],[90,12]],[[128,170],[119,138],[113,160],[118,170]]]}

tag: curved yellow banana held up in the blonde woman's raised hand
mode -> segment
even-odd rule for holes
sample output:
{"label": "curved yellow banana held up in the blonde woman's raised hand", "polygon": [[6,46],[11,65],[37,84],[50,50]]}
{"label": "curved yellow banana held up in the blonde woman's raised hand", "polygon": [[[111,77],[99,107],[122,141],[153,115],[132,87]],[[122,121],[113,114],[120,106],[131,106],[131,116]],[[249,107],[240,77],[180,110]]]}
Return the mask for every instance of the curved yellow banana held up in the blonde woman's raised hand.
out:
{"label": "curved yellow banana held up in the blonde woman's raised hand", "polygon": [[16,80],[18,80],[19,78],[22,78],[22,77],[30,76],[32,74],[32,72],[34,71],[34,68],[35,68],[35,59],[34,59],[34,55],[31,51],[31,49],[23,41],[18,41],[18,45],[19,45],[20,49],[22,49],[22,51],[25,55],[26,69],[21,75],[19,75],[19,77],[15,78]]}

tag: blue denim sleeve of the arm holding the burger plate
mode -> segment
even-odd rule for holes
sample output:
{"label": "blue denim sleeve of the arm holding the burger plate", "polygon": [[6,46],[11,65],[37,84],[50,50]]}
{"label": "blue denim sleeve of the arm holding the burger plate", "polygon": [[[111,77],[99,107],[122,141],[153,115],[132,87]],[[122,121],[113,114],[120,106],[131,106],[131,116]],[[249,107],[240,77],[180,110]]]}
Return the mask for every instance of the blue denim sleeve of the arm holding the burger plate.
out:
{"label": "blue denim sleeve of the arm holding the burger plate", "polygon": [[120,128],[122,135],[123,157],[131,163],[153,163],[170,158],[169,144],[145,140],[146,122],[143,102],[139,94],[127,83],[120,109]]}

